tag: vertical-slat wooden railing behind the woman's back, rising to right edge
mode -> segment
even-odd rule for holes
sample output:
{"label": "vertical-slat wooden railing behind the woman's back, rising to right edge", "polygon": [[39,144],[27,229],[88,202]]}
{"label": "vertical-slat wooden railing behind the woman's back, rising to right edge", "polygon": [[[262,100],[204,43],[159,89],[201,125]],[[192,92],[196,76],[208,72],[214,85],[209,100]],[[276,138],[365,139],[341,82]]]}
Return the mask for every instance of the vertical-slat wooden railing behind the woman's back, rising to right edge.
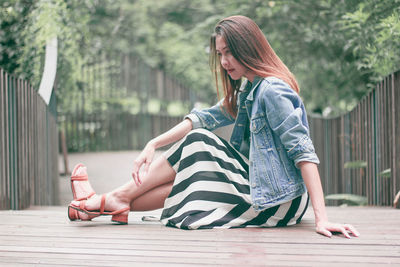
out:
{"label": "vertical-slat wooden railing behind the woman's back, rising to right edge", "polygon": [[393,205],[400,190],[400,72],[386,77],[351,112],[309,120],[325,194]]}

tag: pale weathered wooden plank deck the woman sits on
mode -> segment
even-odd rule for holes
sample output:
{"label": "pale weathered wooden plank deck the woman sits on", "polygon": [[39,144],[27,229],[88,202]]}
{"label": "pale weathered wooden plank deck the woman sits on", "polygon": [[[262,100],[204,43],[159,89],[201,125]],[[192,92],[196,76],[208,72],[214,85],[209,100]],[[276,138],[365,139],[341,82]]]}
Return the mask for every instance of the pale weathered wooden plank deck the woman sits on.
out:
{"label": "pale weathered wooden plank deck the woman sits on", "polygon": [[185,231],[142,222],[70,222],[65,207],[0,211],[0,266],[400,266],[400,210],[330,207],[359,238],[314,232],[312,210],[287,228]]}

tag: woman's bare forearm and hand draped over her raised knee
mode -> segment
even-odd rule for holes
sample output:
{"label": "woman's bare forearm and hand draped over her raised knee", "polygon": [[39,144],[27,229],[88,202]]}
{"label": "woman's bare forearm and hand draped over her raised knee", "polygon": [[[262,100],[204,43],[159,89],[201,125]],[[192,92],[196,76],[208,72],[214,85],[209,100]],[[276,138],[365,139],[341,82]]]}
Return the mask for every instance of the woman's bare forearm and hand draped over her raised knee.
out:
{"label": "woman's bare forearm and hand draped over her raised knee", "polygon": [[190,132],[190,130],[192,130],[192,127],[192,121],[190,119],[185,119],[167,132],[157,136],[147,143],[143,151],[133,162],[132,177],[137,185],[142,183],[139,176],[140,168],[143,164],[145,164],[143,174],[145,175],[151,162],[153,161],[155,150],[182,139],[187,133]]}

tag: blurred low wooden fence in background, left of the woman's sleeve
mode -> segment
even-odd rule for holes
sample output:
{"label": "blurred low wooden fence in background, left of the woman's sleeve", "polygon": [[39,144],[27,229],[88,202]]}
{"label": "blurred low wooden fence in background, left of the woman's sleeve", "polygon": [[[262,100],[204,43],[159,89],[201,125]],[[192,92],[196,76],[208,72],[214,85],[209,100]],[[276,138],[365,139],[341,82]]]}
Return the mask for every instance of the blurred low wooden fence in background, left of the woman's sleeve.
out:
{"label": "blurred low wooden fence in background, left of the woman's sleeve", "polygon": [[63,115],[69,152],[141,150],[144,145],[182,121],[182,116],[113,112]]}

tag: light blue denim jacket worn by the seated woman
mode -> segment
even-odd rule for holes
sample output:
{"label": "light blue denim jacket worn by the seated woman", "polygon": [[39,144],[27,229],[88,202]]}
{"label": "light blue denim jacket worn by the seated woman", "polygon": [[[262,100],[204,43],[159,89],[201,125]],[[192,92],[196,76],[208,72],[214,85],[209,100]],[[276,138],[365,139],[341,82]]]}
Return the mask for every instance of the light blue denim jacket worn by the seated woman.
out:
{"label": "light blue denim jacket worn by the seated woman", "polygon": [[[310,139],[307,115],[299,95],[275,77],[253,81],[247,97],[238,96],[236,119],[222,107],[193,109],[186,116],[193,128],[210,131],[235,123],[230,143],[237,150],[250,119],[249,179],[253,208],[257,211],[290,201],[306,192],[297,164],[319,163]],[[244,82],[241,91],[246,86]]]}

